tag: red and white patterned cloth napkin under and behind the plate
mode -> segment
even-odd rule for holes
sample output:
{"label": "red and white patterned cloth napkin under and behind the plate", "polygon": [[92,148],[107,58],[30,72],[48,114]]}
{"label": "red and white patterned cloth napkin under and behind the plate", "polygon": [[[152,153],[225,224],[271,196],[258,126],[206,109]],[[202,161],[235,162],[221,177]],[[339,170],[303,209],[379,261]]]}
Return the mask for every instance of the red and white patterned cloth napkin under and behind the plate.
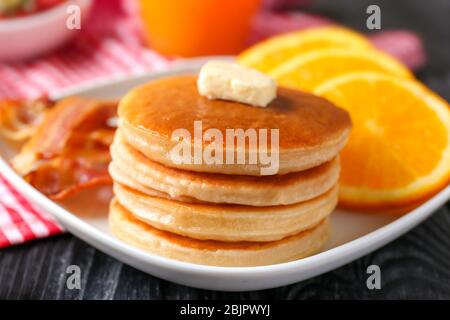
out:
{"label": "red and white patterned cloth napkin under and behind the plate", "polygon": [[[0,64],[0,98],[35,98],[49,92],[57,94],[68,86],[97,77],[165,68],[169,60],[141,44],[136,20],[130,18],[121,3],[97,0],[92,15],[95,19],[70,46],[33,62]],[[259,21],[253,39],[332,23],[303,13],[270,12],[263,13]],[[378,48],[389,51],[410,67],[424,62],[421,41],[414,34],[380,33],[372,40]],[[61,231],[52,217],[28,202],[0,173],[0,248]]]}

